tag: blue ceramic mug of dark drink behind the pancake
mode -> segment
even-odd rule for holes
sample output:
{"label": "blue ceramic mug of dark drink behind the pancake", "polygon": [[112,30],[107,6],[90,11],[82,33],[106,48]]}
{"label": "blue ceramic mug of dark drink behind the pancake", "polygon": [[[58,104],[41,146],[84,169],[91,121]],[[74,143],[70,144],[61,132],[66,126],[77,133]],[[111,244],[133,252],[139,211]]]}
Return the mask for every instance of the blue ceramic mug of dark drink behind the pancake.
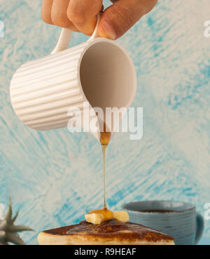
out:
{"label": "blue ceramic mug of dark drink behind the pancake", "polygon": [[130,222],[174,237],[177,245],[192,245],[202,237],[204,219],[195,206],[181,201],[134,201],[123,205]]}

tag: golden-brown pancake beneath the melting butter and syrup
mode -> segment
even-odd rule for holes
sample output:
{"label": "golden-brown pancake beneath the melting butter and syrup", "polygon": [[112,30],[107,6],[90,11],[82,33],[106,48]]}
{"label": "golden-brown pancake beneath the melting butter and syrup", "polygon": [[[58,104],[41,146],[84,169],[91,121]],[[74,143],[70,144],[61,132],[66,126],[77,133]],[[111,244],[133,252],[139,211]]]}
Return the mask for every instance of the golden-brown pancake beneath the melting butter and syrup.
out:
{"label": "golden-brown pancake beneath the melting butter and syrup", "polygon": [[99,225],[85,220],[77,225],[45,230],[38,234],[40,245],[173,245],[167,234],[135,223],[118,220]]}

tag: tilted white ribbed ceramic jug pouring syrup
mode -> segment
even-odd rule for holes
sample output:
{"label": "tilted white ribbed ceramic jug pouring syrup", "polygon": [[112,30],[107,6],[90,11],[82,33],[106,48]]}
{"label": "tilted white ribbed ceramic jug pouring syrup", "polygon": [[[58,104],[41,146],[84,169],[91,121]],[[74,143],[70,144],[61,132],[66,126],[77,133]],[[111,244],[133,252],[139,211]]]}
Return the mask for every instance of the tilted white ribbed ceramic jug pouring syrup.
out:
{"label": "tilted white ribbed ceramic jug pouring syrup", "polygon": [[136,72],[125,49],[116,41],[97,38],[97,26],[88,41],[68,48],[71,34],[62,29],[51,55],[27,62],[13,75],[11,103],[30,128],[66,127],[68,109],[83,109],[83,102],[104,110],[129,107],[134,99]]}

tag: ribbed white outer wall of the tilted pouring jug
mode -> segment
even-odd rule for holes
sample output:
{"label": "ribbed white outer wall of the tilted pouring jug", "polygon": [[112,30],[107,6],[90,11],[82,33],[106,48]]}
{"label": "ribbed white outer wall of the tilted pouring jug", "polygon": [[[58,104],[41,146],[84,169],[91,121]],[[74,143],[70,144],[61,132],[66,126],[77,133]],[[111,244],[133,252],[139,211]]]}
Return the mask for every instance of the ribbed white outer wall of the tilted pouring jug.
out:
{"label": "ribbed white outer wall of the tilted pouring jug", "polygon": [[68,109],[82,109],[85,96],[78,87],[78,65],[87,44],[29,61],[15,72],[10,99],[27,126],[39,131],[66,127]]}

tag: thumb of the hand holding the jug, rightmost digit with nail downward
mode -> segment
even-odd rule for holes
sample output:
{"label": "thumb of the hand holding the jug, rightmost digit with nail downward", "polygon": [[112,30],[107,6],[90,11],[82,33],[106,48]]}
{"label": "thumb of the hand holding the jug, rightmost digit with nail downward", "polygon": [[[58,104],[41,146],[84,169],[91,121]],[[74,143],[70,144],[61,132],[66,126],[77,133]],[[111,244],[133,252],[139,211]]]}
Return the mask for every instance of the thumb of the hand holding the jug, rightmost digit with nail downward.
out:
{"label": "thumb of the hand holding the jug, rightmost digit with nail downward", "polygon": [[118,39],[130,27],[132,27],[141,16],[145,15],[158,0],[120,0],[113,1],[114,4],[106,8],[99,22],[99,36]]}

